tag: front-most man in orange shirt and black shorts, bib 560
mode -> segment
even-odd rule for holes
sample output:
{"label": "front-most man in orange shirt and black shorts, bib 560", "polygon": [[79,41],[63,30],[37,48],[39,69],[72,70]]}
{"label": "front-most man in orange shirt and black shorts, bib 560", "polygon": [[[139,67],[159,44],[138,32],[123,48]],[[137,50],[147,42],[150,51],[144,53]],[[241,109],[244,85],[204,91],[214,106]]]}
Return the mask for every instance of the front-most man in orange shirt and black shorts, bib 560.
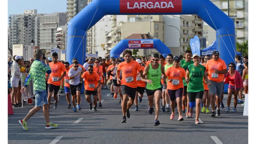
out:
{"label": "front-most man in orange shirt and black shorts, bib 560", "polygon": [[[137,90],[137,77],[141,77],[142,69],[139,63],[132,60],[132,51],[124,50],[123,57],[125,59],[124,62],[120,63],[116,70],[116,77],[119,78],[120,71],[122,71],[122,80],[119,78],[117,84],[120,84],[121,81],[121,89],[123,94],[123,103],[122,103],[122,111],[123,111],[123,119],[121,123],[126,123],[126,116],[130,118],[129,108],[133,105],[136,90]],[[139,71],[139,73],[137,73]],[[127,104],[127,100],[129,97],[129,102]]]}

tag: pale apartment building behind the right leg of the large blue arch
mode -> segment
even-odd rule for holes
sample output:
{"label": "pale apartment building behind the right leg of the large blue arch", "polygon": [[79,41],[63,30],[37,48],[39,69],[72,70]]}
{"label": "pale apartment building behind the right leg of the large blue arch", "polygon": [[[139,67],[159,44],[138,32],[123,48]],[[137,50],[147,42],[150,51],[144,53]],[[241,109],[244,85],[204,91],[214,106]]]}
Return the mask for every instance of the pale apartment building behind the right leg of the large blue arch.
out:
{"label": "pale apartment building behind the right leg of the large blue arch", "polygon": [[[236,41],[248,40],[248,0],[211,0],[235,22]],[[228,4],[229,3],[229,4]],[[216,40],[216,31],[206,23],[203,34],[208,34],[208,44]]]}

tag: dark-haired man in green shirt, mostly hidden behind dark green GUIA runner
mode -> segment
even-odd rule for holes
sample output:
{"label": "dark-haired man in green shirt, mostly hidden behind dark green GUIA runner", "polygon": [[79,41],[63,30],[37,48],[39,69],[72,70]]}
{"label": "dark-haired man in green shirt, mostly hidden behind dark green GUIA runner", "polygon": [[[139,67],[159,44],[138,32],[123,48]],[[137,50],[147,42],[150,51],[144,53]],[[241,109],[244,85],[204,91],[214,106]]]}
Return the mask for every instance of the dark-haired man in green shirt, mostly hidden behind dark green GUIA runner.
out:
{"label": "dark-haired man in green shirt, mostly hidden behind dark green GUIA runner", "polygon": [[[185,51],[185,59],[180,61],[180,67],[184,68],[184,70],[187,70],[187,67],[191,64],[193,64],[193,60],[191,60],[192,52],[190,50]],[[186,113],[186,118],[188,118],[188,111],[189,111],[189,103],[187,103],[187,83],[185,79],[183,78],[183,85],[184,85],[184,92],[183,92],[183,97],[182,97],[182,111],[181,113],[185,113],[187,107],[187,113]]]}

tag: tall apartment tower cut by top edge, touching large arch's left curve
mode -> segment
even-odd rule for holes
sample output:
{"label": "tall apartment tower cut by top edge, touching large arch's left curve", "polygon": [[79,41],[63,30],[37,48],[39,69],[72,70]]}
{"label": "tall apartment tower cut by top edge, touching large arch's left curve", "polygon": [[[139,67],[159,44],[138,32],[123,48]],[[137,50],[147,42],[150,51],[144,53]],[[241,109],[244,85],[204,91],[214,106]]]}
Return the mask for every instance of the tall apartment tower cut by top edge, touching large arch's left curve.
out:
{"label": "tall apartment tower cut by top edge, touching large arch's left curve", "polygon": [[67,0],[67,22],[87,6],[87,0]]}

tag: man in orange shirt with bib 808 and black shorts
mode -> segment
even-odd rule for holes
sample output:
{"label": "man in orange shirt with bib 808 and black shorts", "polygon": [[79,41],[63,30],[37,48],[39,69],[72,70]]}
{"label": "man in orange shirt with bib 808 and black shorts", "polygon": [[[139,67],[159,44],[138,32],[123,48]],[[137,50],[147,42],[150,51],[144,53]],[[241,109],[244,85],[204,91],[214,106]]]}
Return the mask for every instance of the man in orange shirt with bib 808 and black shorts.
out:
{"label": "man in orange shirt with bib 808 and black shorts", "polygon": [[[66,75],[66,68],[63,63],[58,61],[58,53],[54,52],[52,54],[52,62],[49,63],[52,73],[50,74],[50,78],[48,79],[48,103],[49,103],[49,113],[50,113],[50,104],[51,97],[53,92],[53,98],[55,99],[55,103],[53,108],[57,109],[58,107],[58,98],[57,94],[61,85],[62,78]],[[63,74],[62,74],[63,72]]]}

